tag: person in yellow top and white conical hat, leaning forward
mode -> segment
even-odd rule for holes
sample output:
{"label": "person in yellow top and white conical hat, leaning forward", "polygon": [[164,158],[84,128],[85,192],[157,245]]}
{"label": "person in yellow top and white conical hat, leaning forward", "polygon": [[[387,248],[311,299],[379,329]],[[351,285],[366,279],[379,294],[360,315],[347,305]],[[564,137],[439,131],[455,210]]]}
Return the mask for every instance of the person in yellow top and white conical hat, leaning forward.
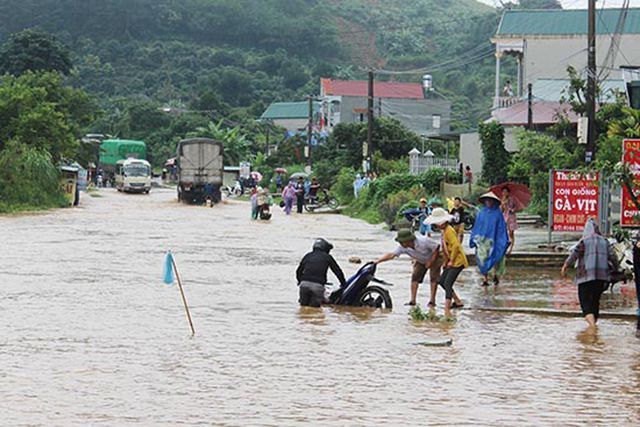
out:
{"label": "person in yellow top and white conical hat, leaning forward", "polygon": [[[444,270],[440,276],[439,284],[445,291],[445,317],[451,317],[452,308],[464,307],[462,301],[460,301],[453,290],[453,285],[462,270],[469,266],[462,244],[460,240],[458,240],[458,235],[449,224],[452,219],[453,217],[443,208],[435,208],[431,215],[425,220],[427,224],[438,227],[442,235],[440,246],[444,253]],[[452,303],[452,300],[455,301]]]}

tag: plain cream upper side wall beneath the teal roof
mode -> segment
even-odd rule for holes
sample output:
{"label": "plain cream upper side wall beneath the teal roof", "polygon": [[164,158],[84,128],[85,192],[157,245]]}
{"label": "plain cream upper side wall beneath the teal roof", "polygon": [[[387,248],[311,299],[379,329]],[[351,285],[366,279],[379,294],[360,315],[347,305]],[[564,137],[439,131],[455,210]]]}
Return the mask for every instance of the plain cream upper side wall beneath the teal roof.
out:
{"label": "plain cream upper side wall beneath the teal roof", "polygon": [[[596,62],[602,66],[611,46],[610,35],[596,38]],[[524,87],[539,78],[566,79],[567,66],[579,72],[587,66],[586,36],[555,36],[555,38],[529,37],[524,42]],[[623,55],[624,54],[624,55]],[[620,52],[613,68],[620,65],[640,65],[640,34],[623,34]],[[612,71],[610,79],[621,79],[622,74]]]}

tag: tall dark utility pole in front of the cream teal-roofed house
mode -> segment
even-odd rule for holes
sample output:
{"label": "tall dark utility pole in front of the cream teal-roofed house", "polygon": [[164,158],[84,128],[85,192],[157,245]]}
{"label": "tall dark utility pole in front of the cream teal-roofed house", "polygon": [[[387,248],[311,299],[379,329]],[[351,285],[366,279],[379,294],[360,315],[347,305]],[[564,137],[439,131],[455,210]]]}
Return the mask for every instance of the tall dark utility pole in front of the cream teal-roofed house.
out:
{"label": "tall dark utility pole in front of the cream teal-roofed house", "polygon": [[596,151],[596,0],[589,0],[587,35],[587,149],[585,163],[593,161]]}

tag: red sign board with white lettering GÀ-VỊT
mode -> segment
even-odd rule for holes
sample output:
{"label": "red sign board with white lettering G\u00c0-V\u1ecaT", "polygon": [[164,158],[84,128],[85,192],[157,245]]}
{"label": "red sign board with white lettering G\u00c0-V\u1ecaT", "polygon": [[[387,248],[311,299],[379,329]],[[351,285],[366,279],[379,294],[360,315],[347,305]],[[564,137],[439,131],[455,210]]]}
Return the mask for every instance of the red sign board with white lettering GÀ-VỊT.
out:
{"label": "red sign board with white lettering G\u00c0-V\u1ecaT", "polygon": [[582,231],[598,217],[599,175],[553,171],[553,231]]}

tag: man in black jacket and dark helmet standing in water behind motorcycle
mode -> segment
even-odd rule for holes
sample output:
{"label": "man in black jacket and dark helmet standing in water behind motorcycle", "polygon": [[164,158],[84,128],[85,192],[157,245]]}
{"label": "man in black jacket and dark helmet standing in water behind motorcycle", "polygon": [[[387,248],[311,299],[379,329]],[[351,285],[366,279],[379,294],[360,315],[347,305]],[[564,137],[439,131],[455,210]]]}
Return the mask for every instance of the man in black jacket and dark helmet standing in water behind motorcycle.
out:
{"label": "man in black jacket and dark helmet standing in water behind motorcycle", "polygon": [[316,239],[313,250],[306,254],[296,270],[298,287],[300,288],[300,305],[320,307],[324,300],[324,285],[327,283],[327,270],[329,268],[344,286],[346,280],[344,273],[336,260],[329,255],[333,245],[325,239]]}

